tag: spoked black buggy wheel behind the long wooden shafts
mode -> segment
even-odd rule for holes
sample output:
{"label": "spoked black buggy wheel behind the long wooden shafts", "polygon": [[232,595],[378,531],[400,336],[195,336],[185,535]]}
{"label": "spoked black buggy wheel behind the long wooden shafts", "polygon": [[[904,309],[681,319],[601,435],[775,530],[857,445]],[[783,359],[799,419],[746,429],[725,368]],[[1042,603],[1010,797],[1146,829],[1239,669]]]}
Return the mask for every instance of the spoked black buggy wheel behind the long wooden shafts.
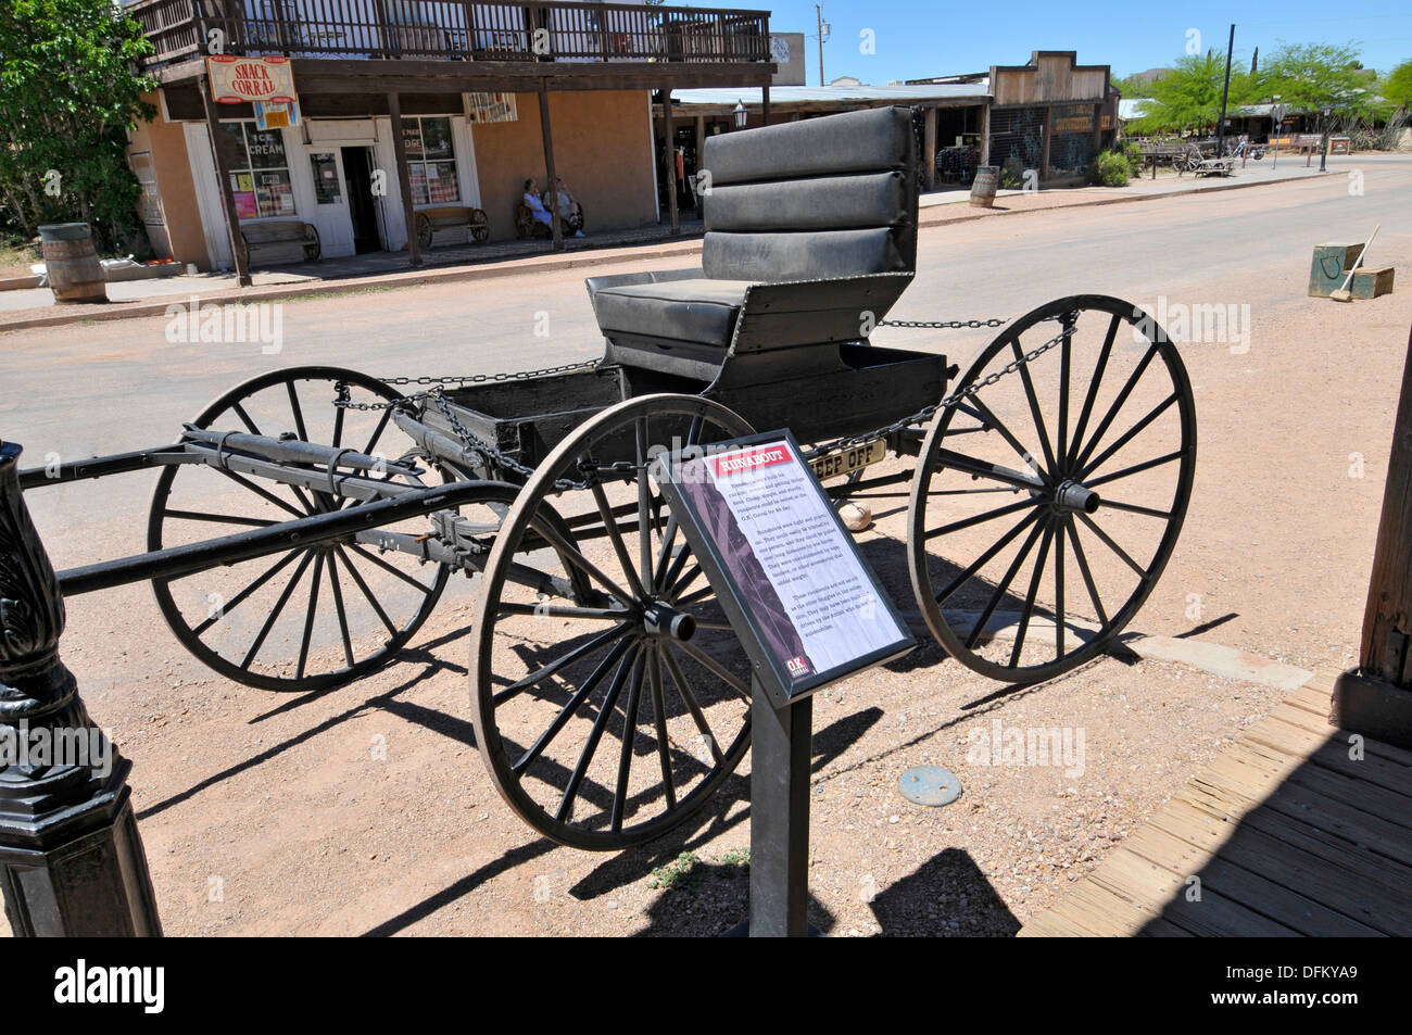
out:
{"label": "spoked black buggy wheel behind the long wooden shafts", "polygon": [[[353,404],[401,398],[352,370],[294,367],[232,388],[192,424],[251,435],[291,432],[393,462],[422,459],[390,409],[335,407],[340,393]],[[405,486],[449,480],[436,472],[373,476]],[[465,507],[462,514],[498,525],[508,507],[503,496],[493,503]],[[332,490],[312,491],[206,465],[164,467],[152,493],[147,548],[356,505],[361,503]],[[446,569],[385,548],[426,531],[426,518],[415,518],[179,579],[154,579],[152,590],[176,638],[216,672],[268,690],[333,686],[385,664],[432,613],[446,586]]]}

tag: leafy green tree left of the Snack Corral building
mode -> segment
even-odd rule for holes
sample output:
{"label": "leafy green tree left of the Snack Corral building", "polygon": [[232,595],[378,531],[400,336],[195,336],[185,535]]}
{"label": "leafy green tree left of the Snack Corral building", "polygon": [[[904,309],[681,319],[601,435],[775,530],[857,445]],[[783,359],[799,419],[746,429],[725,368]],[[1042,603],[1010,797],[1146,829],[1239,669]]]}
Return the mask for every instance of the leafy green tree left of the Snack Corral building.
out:
{"label": "leafy green tree left of the Snack Corral building", "polygon": [[41,223],[93,226],[114,247],[136,225],[138,185],[126,130],[155,113],[138,71],[150,51],[113,0],[0,3],[0,219],[32,237]]}

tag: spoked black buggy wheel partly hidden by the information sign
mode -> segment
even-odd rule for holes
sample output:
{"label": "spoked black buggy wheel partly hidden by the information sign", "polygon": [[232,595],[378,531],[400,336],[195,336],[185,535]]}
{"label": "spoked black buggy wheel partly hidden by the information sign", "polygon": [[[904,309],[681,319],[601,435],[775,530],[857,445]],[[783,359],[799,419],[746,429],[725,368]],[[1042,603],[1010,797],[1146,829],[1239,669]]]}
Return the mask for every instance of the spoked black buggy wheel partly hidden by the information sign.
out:
{"label": "spoked black buggy wheel partly hidden by the information sign", "polygon": [[[496,539],[470,668],[476,741],[501,796],[562,844],[665,833],[748,747],[746,652],[650,470],[659,448],[748,433],[695,395],[621,402],[554,449]],[[576,541],[535,554],[551,497]],[[535,592],[570,575],[589,586],[578,599]]]}

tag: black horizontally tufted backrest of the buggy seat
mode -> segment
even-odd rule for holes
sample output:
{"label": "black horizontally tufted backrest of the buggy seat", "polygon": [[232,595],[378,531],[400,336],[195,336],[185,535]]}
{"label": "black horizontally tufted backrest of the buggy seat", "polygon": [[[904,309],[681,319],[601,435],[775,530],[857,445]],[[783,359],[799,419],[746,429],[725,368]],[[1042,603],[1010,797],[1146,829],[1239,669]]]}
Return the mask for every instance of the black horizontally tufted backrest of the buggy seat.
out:
{"label": "black horizontally tufted backrest of the buggy seat", "polygon": [[706,140],[702,267],[778,282],[916,270],[912,112],[866,112]]}

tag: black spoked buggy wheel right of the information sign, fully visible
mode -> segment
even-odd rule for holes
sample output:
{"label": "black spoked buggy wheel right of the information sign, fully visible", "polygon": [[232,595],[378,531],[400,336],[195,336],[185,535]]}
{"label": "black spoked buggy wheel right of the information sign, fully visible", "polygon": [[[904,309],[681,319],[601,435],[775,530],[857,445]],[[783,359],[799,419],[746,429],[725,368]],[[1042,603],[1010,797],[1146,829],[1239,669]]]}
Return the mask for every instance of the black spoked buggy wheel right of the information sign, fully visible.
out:
{"label": "black spoked buggy wheel right of the information sign, fully visible", "polygon": [[1123,631],[1172,556],[1196,470],[1182,357],[1115,298],[1035,309],[953,391],[1053,336],[1018,373],[938,412],[908,508],[926,624],[953,658],[1015,683],[1052,679]]}

